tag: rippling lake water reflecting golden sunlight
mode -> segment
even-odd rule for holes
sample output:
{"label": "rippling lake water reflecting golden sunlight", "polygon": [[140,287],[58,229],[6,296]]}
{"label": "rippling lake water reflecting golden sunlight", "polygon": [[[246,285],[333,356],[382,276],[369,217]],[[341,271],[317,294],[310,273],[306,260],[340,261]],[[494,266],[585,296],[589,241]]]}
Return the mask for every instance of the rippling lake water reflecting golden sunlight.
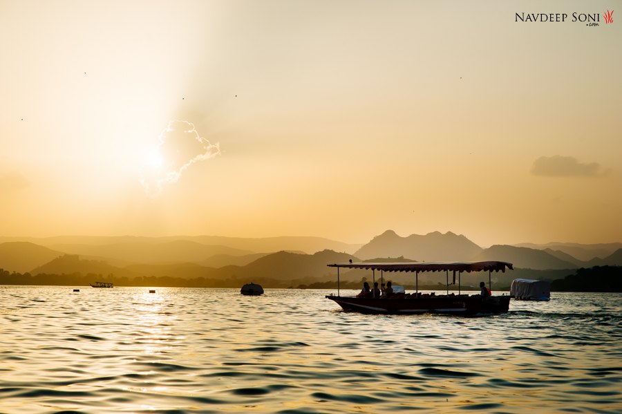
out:
{"label": "rippling lake water reflecting golden sunlight", "polygon": [[622,412],[622,294],[466,319],[342,312],[334,290],[79,289],[0,286],[0,413]]}

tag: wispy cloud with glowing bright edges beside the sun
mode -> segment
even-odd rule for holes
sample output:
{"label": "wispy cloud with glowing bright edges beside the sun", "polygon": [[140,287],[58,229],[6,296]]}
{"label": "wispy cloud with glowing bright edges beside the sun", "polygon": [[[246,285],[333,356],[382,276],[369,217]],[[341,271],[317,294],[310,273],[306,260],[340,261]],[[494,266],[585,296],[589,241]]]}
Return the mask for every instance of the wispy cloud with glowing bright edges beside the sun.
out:
{"label": "wispy cloud with glowing bright edges beside the sun", "polygon": [[160,143],[142,166],[140,183],[150,196],[162,193],[164,185],[177,182],[192,164],[220,154],[218,143],[201,138],[194,124],[171,121],[160,134]]}

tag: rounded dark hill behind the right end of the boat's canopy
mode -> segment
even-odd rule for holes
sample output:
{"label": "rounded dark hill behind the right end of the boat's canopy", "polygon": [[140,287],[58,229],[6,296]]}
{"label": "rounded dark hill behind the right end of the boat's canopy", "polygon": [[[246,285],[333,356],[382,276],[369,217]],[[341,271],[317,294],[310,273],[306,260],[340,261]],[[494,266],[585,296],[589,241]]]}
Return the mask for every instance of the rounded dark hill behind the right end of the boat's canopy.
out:
{"label": "rounded dark hill behind the right end of the boat's canopy", "polygon": [[514,267],[534,270],[574,269],[576,265],[552,256],[543,250],[529,247],[509,245],[493,245],[480,254],[473,256],[472,261],[507,261]]}

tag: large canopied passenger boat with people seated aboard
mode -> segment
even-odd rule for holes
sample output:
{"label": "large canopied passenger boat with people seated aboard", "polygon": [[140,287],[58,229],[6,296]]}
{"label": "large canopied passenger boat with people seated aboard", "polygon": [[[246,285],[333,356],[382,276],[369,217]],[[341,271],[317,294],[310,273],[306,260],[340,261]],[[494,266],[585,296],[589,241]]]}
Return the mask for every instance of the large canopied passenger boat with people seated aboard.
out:
{"label": "large canopied passenger boat with people seated aboard", "polygon": [[[501,261],[464,262],[464,263],[332,263],[329,267],[337,267],[337,295],[330,294],[326,299],[337,303],[343,310],[371,314],[424,314],[440,313],[462,316],[482,316],[485,314],[506,313],[509,310],[510,295],[482,297],[480,294],[461,294],[460,275],[462,272],[488,271],[489,286],[491,272],[513,270],[512,264]],[[415,273],[415,292],[399,293],[384,299],[381,297],[341,296],[339,292],[339,269],[372,270],[373,281],[375,272],[413,272]],[[455,284],[458,272],[458,294],[449,293],[449,272],[453,272]],[[420,272],[445,272],[446,294],[422,294],[419,292]]]}

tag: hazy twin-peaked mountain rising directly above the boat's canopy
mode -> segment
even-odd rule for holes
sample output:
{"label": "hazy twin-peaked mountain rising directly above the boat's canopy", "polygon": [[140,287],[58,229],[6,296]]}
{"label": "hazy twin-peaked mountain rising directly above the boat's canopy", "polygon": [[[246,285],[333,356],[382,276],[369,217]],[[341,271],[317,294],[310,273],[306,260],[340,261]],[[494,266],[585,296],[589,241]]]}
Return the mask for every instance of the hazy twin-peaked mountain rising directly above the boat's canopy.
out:
{"label": "hazy twin-peaked mountain rising directly above the boat's canopy", "polygon": [[452,232],[402,237],[393,230],[387,230],[357,250],[354,255],[363,259],[404,256],[416,261],[466,261],[480,252],[482,247]]}

